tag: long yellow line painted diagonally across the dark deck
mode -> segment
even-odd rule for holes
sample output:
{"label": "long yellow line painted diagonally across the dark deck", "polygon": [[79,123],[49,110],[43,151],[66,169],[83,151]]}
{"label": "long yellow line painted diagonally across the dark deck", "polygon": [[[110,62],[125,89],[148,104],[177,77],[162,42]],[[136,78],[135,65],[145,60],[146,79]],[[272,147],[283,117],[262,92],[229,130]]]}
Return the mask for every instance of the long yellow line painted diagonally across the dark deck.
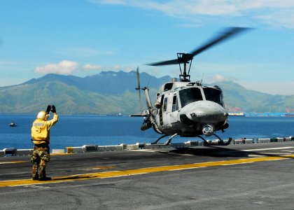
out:
{"label": "long yellow line painted diagonally across the dark deck", "polygon": [[262,158],[246,158],[246,159],[238,159],[238,160],[223,160],[223,161],[216,161],[216,162],[200,162],[200,163],[191,163],[191,164],[185,164],[185,165],[170,165],[170,166],[161,166],[161,167],[130,169],[125,171],[115,171],[115,172],[77,174],[72,176],[54,177],[52,178],[52,181],[33,181],[31,179],[7,180],[7,181],[0,181],[0,188],[8,187],[8,186],[10,187],[27,186],[27,185],[36,185],[36,184],[44,184],[44,183],[48,184],[48,183],[58,183],[58,182],[66,182],[66,181],[80,181],[85,179],[106,179],[111,177],[150,174],[155,172],[167,172],[167,171],[184,170],[184,169],[196,169],[201,167],[214,167],[214,166],[221,166],[221,165],[238,165],[238,164],[245,164],[245,163],[262,162],[262,161],[286,160],[288,158],[294,158],[294,155],[272,156],[272,157],[262,157]]}

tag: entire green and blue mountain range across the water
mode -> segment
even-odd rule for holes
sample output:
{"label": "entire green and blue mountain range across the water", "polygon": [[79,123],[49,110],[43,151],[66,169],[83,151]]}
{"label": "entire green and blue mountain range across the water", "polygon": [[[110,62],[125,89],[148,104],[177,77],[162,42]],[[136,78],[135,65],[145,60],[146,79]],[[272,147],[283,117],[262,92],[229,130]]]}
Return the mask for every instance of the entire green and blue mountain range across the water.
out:
{"label": "entire green and blue mountain range across the water", "polygon": [[[159,87],[172,78],[156,78],[140,73],[141,87],[148,86],[151,100]],[[232,81],[214,83],[223,89],[226,108],[244,112],[286,112],[294,105],[294,95],[271,95],[246,90]],[[60,114],[130,114],[138,113],[137,73],[102,71],[80,78],[48,74],[20,85],[0,87],[0,113],[37,113],[55,104]],[[144,92],[142,105],[146,108]]]}

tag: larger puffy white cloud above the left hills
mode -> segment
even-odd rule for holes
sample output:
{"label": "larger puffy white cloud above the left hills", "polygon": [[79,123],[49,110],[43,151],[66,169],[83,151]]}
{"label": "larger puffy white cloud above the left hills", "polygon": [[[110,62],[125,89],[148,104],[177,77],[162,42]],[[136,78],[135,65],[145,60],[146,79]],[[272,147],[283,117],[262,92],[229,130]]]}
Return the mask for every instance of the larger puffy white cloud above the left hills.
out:
{"label": "larger puffy white cloud above the left hills", "polygon": [[78,62],[72,62],[64,60],[58,64],[47,64],[45,66],[36,66],[34,69],[35,73],[47,74],[47,73],[57,73],[69,75],[78,69]]}

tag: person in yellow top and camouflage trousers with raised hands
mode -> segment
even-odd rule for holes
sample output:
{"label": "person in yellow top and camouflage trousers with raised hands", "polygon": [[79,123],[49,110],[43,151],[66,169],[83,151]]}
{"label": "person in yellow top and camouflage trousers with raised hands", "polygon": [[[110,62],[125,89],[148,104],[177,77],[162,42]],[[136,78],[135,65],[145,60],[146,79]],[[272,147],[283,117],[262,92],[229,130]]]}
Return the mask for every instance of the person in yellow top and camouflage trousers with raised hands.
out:
{"label": "person in yellow top and camouflage trousers with raised hands", "polygon": [[[52,111],[53,118],[49,112]],[[58,121],[56,108],[54,105],[48,105],[47,111],[40,111],[36,120],[31,127],[31,141],[34,144],[34,152],[31,155],[31,163],[33,164],[33,180],[49,181],[50,177],[46,176],[45,167],[50,160],[50,128]]]}

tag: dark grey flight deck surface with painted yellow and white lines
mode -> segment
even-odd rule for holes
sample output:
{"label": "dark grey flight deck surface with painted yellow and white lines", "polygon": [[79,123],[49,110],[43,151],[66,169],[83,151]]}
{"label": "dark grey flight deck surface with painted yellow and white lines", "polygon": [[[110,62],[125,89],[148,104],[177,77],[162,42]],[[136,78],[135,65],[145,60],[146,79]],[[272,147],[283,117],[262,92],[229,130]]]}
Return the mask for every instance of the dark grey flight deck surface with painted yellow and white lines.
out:
{"label": "dark grey flight deck surface with painted yellow and white lines", "polygon": [[294,141],[0,158],[1,209],[293,209]]}

